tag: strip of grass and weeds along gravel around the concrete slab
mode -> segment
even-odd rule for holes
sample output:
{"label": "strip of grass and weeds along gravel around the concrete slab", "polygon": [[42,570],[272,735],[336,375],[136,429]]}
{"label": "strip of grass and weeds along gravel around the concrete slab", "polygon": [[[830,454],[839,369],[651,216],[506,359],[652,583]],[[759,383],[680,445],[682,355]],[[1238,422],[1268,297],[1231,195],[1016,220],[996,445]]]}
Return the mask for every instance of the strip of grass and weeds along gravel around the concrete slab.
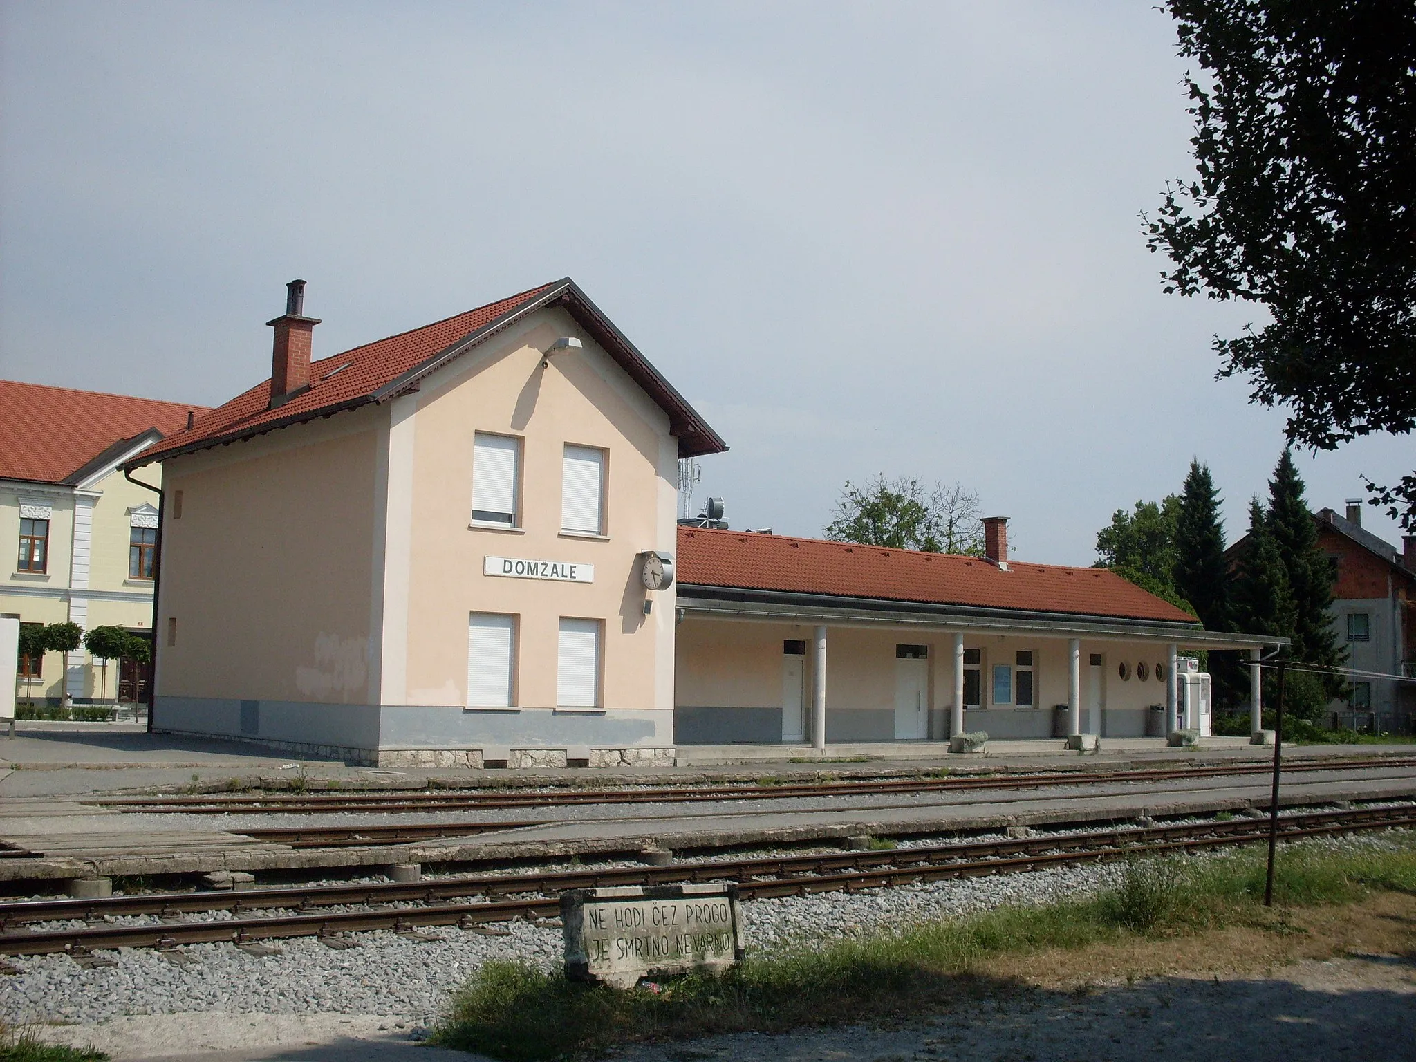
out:
{"label": "strip of grass and weeds along gravel around the concrete slab", "polygon": [[[1045,906],[1005,906],[896,932],[749,954],[719,977],[690,974],[630,991],[568,981],[523,963],[489,963],[462,988],[433,1042],[506,1062],[595,1055],[617,1042],[779,1032],[892,1015],[920,1017],[961,997],[1011,993],[998,959],[1246,927],[1301,933],[1293,910],[1416,895],[1416,835],[1347,851],[1284,845],[1264,909],[1264,857],[1249,848],[1202,860],[1129,864],[1107,891]],[[749,922],[750,936],[750,922]]]}

